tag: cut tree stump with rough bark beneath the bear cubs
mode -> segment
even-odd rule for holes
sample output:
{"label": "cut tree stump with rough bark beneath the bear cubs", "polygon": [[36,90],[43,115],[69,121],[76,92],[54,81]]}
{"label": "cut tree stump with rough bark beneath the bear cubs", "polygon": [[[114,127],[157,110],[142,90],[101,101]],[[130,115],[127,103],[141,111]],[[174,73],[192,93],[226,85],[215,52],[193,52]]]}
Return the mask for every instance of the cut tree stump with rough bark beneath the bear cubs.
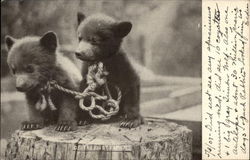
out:
{"label": "cut tree stump with rough bark beneath the bear cubs", "polygon": [[146,119],[138,128],[119,123],[91,124],[73,132],[17,130],[6,151],[7,160],[192,159],[192,132],[166,120]]}

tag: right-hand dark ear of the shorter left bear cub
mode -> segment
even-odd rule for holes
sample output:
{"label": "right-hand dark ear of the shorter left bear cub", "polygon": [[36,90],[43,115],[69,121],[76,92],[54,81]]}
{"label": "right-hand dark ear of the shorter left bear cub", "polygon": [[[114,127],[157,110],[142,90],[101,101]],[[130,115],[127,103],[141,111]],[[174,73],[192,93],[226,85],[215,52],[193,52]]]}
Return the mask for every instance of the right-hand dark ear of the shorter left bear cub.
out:
{"label": "right-hand dark ear of the shorter left bear cub", "polygon": [[49,31],[40,39],[40,44],[51,52],[54,52],[57,47],[57,35],[55,32]]}

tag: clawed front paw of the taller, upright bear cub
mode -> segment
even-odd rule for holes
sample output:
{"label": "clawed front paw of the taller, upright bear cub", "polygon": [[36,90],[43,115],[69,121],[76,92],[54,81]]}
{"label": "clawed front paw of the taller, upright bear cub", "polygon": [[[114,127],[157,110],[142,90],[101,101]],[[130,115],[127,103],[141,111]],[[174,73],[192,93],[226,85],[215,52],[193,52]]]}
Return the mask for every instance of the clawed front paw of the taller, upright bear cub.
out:
{"label": "clawed front paw of the taller, upright bear cub", "polygon": [[143,124],[143,118],[141,116],[133,119],[126,118],[120,123],[121,128],[136,128]]}

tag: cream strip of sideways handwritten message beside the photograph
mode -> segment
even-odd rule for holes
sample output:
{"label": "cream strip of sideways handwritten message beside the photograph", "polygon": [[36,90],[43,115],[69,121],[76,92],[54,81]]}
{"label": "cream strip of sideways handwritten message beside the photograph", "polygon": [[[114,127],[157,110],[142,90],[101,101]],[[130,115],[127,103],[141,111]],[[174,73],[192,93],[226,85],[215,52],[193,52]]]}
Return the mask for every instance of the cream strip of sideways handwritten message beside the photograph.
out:
{"label": "cream strip of sideways handwritten message beside the photograph", "polygon": [[202,12],[202,156],[249,159],[249,1]]}

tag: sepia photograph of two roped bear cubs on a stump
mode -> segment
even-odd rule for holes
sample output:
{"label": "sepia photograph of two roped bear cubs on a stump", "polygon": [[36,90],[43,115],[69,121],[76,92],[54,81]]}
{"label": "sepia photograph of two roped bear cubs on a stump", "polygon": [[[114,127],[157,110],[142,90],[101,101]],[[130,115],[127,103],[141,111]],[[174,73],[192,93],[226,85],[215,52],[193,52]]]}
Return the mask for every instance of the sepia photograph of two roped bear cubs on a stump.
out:
{"label": "sepia photograph of two roped bear cubs on a stump", "polygon": [[1,0],[1,159],[202,159],[201,0]]}

